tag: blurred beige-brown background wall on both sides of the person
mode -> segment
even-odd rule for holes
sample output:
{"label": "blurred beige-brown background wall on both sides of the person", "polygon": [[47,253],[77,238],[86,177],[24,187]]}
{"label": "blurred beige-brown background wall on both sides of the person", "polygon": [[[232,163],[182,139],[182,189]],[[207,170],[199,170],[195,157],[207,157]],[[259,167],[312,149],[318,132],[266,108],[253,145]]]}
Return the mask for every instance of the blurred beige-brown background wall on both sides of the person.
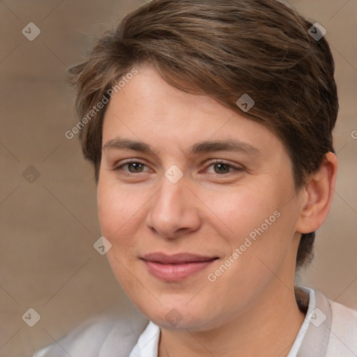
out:
{"label": "blurred beige-brown background wall on both sides of the person", "polygon": [[[298,283],[357,309],[357,1],[290,2],[328,31],[341,107],[336,195],[316,259]],[[0,356],[31,356],[87,317],[131,308],[93,249],[100,236],[96,186],[78,142],[64,136],[75,123],[66,68],[143,3],[0,2]],[[29,22],[41,31],[33,42],[22,34]],[[30,165],[40,174],[33,183],[22,176]],[[30,307],[41,316],[32,328],[21,318]]]}

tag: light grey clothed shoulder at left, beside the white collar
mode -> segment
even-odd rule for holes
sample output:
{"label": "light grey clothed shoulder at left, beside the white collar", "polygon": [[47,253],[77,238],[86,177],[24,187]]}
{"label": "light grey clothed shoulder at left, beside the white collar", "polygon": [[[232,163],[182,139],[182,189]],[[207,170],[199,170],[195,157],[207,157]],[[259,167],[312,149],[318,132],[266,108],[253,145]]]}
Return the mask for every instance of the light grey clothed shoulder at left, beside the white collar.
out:
{"label": "light grey clothed shoulder at left, beside the white collar", "polygon": [[142,314],[93,317],[33,357],[128,356],[148,323]]}

